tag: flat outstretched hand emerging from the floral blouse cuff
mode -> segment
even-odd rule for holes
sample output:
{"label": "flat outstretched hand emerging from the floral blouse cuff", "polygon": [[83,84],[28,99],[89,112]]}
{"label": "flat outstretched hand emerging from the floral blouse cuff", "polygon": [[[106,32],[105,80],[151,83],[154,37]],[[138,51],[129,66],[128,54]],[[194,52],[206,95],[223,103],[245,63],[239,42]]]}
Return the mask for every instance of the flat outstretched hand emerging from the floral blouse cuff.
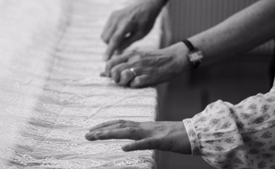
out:
{"label": "flat outstretched hand emerging from the floral blouse cuff", "polygon": [[136,140],[122,149],[124,151],[159,149],[191,154],[191,146],[183,122],[133,122],[125,120],[98,124],[86,134],[86,139],[132,139]]}

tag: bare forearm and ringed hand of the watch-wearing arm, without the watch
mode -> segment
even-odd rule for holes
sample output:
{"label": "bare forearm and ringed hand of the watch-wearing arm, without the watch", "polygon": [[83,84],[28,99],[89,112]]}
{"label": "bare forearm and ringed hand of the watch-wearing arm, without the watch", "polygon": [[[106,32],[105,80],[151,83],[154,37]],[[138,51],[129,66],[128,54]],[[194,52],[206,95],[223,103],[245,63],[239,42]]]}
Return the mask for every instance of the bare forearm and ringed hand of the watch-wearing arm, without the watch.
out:
{"label": "bare forearm and ringed hand of the watch-wearing arm, without the watch", "polygon": [[[246,52],[275,37],[274,9],[274,0],[258,1],[189,40],[203,51],[203,64]],[[133,87],[158,84],[192,67],[187,53],[182,42],[161,50],[128,52],[107,61],[105,75]]]}

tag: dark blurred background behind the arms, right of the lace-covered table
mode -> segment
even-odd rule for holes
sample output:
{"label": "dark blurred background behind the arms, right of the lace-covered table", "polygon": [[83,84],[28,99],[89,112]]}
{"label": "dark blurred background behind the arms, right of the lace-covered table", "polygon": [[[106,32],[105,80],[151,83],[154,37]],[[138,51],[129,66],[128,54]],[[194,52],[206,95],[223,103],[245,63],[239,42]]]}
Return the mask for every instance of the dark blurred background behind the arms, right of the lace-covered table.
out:
{"label": "dark blurred background behind the arms, right of the lace-covered table", "polygon": [[[204,31],[256,0],[171,0],[162,19],[161,47]],[[259,25],[260,27],[261,25]],[[203,65],[159,86],[158,120],[179,121],[193,117],[206,105],[221,99],[236,104],[269,91],[269,63],[274,42]],[[157,152],[158,169],[212,169],[200,156]]]}

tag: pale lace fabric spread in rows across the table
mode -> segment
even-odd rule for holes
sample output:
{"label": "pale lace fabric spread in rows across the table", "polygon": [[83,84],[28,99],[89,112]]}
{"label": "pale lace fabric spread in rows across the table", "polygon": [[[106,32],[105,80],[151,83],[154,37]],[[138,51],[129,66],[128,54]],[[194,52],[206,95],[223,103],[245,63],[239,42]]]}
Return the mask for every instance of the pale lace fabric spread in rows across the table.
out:
{"label": "pale lace fabric spread in rows across the table", "polygon": [[[122,151],[131,140],[84,138],[102,122],[156,117],[155,88],[99,76],[99,34],[112,10],[127,3],[0,2],[0,168],[155,168],[154,151]],[[158,47],[158,31],[133,46]]]}

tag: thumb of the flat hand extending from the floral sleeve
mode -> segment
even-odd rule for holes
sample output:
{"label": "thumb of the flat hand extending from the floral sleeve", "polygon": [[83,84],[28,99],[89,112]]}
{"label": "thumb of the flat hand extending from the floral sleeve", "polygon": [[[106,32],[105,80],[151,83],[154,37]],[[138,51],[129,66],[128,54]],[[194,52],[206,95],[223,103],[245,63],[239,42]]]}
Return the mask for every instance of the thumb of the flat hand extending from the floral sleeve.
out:
{"label": "thumb of the flat hand extending from the floral sleeve", "polygon": [[133,150],[146,150],[146,149],[159,149],[161,146],[161,140],[157,138],[144,138],[142,140],[131,142],[122,147],[126,152]]}

